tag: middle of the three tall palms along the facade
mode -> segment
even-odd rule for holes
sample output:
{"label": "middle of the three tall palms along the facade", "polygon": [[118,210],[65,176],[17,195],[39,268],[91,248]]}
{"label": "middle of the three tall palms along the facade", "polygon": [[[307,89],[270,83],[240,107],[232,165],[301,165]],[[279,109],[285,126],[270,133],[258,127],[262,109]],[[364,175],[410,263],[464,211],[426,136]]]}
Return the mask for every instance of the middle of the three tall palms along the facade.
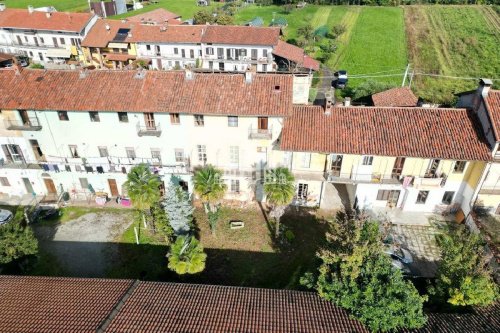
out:
{"label": "middle of the three tall palms along the facade", "polygon": [[205,211],[212,211],[211,204],[221,200],[227,190],[222,182],[222,170],[206,165],[194,174],[194,191],[200,196]]}

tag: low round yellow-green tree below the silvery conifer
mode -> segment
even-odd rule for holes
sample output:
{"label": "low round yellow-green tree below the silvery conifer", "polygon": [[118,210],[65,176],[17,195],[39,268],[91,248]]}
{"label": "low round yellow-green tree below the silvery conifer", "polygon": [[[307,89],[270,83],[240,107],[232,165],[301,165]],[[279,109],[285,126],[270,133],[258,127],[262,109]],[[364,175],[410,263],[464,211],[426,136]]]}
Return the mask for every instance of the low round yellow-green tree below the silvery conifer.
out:
{"label": "low round yellow-green tree below the silvery conifer", "polygon": [[168,257],[168,268],[177,274],[196,274],[205,269],[207,255],[193,236],[179,236]]}

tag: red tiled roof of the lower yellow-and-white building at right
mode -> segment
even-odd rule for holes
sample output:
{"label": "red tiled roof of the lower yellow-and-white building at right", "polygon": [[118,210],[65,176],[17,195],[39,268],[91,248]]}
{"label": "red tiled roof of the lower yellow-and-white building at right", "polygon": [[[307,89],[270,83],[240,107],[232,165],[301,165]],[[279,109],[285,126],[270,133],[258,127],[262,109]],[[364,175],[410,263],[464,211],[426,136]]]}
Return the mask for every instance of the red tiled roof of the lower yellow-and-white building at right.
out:
{"label": "red tiled roof of the lower yellow-and-white building at right", "polygon": [[281,149],[356,155],[489,160],[472,112],[465,109],[294,106]]}

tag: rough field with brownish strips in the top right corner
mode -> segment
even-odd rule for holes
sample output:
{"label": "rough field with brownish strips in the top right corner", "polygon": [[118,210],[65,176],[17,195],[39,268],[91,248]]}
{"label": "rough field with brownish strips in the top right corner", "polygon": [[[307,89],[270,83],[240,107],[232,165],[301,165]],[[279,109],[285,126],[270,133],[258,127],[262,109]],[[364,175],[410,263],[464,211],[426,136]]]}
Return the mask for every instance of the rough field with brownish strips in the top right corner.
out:
{"label": "rough field with brownish strips in the top right corner", "polygon": [[[490,6],[406,6],[410,59],[431,74],[497,78],[500,73],[500,18]],[[453,94],[473,89],[477,80],[419,76],[417,93],[452,103]]]}

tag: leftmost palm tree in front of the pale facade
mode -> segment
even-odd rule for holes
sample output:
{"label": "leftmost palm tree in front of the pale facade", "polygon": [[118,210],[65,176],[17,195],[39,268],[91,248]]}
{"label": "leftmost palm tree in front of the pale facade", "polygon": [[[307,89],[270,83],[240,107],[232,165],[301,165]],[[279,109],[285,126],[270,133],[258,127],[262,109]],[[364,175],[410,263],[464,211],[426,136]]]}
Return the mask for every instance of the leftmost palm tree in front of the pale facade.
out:
{"label": "leftmost palm tree in front of the pale facade", "polygon": [[143,222],[146,221],[145,211],[160,200],[159,186],[160,179],[151,173],[147,164],[134,166],[127,175],[125,188],[132,204],[141,213]]}

